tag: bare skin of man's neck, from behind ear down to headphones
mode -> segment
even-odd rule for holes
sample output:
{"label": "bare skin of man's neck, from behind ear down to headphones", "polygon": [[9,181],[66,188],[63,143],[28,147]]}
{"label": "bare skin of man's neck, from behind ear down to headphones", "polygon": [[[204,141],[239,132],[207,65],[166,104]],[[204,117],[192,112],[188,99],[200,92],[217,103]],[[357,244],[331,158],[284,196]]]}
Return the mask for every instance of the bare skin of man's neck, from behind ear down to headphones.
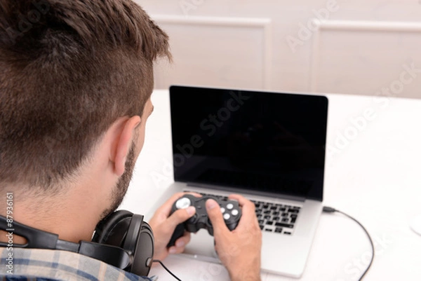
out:
{"label": "bare skin of man's neck, from behind ear down to headphones", "polygon": [[91,240],[119,180],[107,152],[112,138],[103,139],[91,160],[83,163],[72,179],[56,186],[55,192],[28,186],[1,186],[0,214],[6,214],[6,193],[11,192],[15,221],[58,234],[60,240]]}

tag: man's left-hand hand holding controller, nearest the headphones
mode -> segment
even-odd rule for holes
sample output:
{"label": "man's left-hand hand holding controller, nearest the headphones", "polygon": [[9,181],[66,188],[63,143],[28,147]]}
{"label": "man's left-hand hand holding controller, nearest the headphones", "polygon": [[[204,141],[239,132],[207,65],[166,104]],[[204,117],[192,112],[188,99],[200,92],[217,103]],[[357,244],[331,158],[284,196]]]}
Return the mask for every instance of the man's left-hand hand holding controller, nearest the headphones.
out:
{"label": "man's left-hand hand holding controller, nearest the headphones", "polygon": [[[185,232],[185,235],[175,241],[175,246],[166,247],[170,242],[171,236],[174,233],[175,227],[184,221],[187,221],[196,213],[196,208],[193,206],[187,209],[180,209],[171,214],[171,207],[178,198],[182,197],[185,193],[175,193],[170,199],[166,201],[158,210],[156,210],[154,217],[148,222],[154,231],[155,247],[154,259],[163,260],[168,254],[179,254],[184,251],[185,245],[190,241],[190,233]],[[192,193],[194,196],[199,194]]]}

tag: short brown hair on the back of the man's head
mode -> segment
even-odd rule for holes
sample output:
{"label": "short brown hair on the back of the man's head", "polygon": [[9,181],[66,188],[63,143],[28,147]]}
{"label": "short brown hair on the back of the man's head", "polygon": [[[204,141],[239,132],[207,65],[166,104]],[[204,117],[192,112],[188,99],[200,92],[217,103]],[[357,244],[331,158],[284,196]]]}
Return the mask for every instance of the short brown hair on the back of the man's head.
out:
{"label": "short brown hair on the back of the man's head", "polygon": [[131,0],[0,0],[0,185],[71,177],[142,116],[168,36]]}

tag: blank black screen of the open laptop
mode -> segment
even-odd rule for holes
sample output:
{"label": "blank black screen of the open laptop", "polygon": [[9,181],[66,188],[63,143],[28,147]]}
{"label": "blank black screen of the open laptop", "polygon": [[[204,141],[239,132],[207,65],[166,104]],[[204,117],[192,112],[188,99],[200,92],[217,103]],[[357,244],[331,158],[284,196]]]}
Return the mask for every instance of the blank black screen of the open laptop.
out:
{"label": "blank black screen of the open laptop", "polygon": [[328,99],[173,85],[175,181],[323,200]]}

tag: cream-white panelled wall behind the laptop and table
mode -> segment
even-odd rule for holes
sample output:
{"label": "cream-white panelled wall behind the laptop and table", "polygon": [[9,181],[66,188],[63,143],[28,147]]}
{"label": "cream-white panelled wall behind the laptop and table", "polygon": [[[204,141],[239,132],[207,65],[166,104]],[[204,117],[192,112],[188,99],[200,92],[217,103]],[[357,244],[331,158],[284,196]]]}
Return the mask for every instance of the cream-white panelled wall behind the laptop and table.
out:
{"label": "cream-white panelled wall behind the laptop and table", "polygon": [[156,88],[421,98],[421,0],[136,1],[171,37]]}

